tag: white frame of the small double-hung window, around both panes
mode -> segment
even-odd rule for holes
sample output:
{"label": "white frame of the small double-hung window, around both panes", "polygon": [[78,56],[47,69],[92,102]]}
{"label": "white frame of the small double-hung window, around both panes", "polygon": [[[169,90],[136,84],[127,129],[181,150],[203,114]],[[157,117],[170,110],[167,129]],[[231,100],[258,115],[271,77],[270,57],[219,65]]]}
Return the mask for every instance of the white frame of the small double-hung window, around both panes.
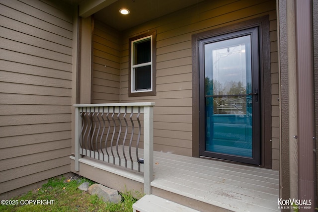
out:
{"label": "white frame of the small double-hung window, around both panes", "polygon": [[[151,61],[148,62],[148,63],[143,63],[143,64],[138,64],[138,65],[133,65],[134,64],[134,43],[138,42],[138,41],[142,41],[142,40],[146,40],[150,38],[150,43],[151,43]],[[133,40],[131,41],[131,92],[132,93],[140,93],[140,92],[152,92],[153,91],[153,35],[149,35],[149,36],[146,36],[146,37],[143,37],[143,38],[140,38],[140,39],[137,39],[137,40]],[[135,71],[134,69],[135,68],[138,68],[138,67],[144,67],[144,66],[149,66],[151,65],[151,88],[149,89],[139,89],[139,90],[135,90]]]}

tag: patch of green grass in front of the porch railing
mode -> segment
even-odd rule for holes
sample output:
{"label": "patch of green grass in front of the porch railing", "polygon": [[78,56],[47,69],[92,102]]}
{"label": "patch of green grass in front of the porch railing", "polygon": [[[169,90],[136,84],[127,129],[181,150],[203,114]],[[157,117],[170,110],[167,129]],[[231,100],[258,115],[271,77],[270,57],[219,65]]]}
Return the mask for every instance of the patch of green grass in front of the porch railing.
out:
{"label": "patch of green grass in front of the porch railing", "polygon": [[[97,195],[78,189],[83,182],[89,182],[86,178],[52,178],[41,188],[12,198],[11,202],[17,205],[0,205],[1,212],[132,212],[133,204],[137,201],[131,192],[120,193],[122,201],[119,204],[105,203]],[[138,193],[138,192],[137,192]],[[28,204],[29,200],[39,200],[42,204]],[[44,205],[45,201],[51,204]],[[54,203],[52,204],[52,200]],[[24,204],[27,203],[27,204]],[[49,202],[47,202],[49,203]]]}

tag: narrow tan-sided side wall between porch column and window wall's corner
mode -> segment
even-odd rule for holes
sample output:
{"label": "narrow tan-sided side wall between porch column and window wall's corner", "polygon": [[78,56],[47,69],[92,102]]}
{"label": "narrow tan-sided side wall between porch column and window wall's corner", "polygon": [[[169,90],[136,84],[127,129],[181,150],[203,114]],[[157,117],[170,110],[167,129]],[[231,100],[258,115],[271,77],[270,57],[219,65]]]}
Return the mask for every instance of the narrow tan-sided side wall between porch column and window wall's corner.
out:
{"label": "narrow tan-sided side wall between porch column and window wall's corner", "polygon": [[93,48],[92,103],[119,102],[120,33],[95,21]]}

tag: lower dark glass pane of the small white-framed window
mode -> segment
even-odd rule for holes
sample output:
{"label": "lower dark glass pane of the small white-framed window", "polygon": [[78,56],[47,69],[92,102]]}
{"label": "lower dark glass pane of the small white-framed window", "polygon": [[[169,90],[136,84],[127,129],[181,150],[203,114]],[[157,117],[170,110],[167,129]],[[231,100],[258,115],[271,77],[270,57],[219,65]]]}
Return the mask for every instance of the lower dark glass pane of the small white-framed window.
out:
{"label": "lower dark glass pane of the small white-framed window", "polygon": [[151,65],[138,67],[135,71],[135,90],[151,89]]}

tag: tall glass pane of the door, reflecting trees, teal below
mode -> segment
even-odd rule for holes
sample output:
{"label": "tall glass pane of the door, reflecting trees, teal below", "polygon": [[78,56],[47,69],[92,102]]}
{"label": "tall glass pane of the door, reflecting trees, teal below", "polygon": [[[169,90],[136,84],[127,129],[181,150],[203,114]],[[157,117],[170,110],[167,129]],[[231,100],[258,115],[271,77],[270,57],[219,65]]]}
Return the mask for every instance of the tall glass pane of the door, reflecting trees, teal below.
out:
{"label": "tall glass pane of the door, reflecting trees, teal below", "polygon": [[250,36],[204,45],[206,150],[252,157]]}

